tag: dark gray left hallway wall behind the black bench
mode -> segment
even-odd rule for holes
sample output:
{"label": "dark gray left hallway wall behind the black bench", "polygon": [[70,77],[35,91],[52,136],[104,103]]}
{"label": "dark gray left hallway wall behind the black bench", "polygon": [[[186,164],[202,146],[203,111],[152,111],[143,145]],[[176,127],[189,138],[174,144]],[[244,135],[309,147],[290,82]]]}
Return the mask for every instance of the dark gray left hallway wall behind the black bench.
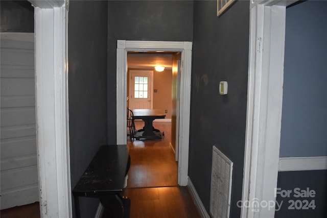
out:
{"label": "dark gray left hallway wall behind the black bench", "polygon": [[[72,189],[107,143],[107,2],[71,1],[68,17],[69,147]],[[82,217],[99,201],[80,198]],[[74,202],[73,202],[73,212]]]}

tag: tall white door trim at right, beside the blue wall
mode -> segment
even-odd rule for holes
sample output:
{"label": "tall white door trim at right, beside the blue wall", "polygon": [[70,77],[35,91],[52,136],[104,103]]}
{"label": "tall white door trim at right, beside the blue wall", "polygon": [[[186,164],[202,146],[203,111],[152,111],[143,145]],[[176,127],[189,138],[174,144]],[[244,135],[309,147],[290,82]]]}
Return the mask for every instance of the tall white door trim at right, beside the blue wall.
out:
{"label": "tall white door trim at right, beside the blue wall", "polygon": [[[251,1],[247,122],[242,202],[275,202],[283,104],[286,6]],[[274,217],[275,209],[243,206],[241,217]]]}

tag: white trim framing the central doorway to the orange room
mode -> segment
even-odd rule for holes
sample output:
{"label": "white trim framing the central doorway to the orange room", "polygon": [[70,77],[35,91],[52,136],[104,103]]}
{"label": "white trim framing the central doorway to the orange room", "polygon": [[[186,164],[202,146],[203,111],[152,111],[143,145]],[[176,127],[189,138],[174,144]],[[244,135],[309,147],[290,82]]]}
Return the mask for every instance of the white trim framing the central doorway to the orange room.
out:
{"label": "white trim framing the central doorway to the orange room", "polygon": [[177,41],[117,41],[116,71],[116,138],[117,144],[127,143],[126,96],[127,96],[127,52],[169,51],[182,53],[181,100],[179,127],[178,185],[188,185],[190,102],[191,102],[191,61],[192,42]]}

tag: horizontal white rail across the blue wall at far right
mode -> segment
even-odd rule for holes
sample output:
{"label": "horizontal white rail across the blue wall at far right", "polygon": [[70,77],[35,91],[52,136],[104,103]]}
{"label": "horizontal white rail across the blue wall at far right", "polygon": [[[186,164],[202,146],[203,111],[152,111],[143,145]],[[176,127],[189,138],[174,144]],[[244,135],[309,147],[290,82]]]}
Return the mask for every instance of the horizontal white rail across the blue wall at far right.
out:
{"label": "horizontal white rail across the blue wall at far right", "polygon": [[321,157],[281,157],[278,171],[315,171],[327,169],[327,156]]}

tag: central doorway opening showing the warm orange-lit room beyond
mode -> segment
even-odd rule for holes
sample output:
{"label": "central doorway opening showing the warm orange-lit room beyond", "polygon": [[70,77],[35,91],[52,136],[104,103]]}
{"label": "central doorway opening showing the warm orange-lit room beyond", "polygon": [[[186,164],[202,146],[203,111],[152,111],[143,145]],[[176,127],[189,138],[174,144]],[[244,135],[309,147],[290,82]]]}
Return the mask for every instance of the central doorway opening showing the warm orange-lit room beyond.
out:
{"label": "central doorway opening showing the warm orange-lit room beyond", "polygon": [[[179,57],[179,60],[178,60]],[[164,119],[153,120],[160,140],[128,140],[132,164],[127,188],[167,187],[177,185],[180,52],[128,52],[127,53],[127,107],[154,109],[165,114]],[[155,66],[163,66],[157,71]],[[178,116],[176,116],[178,112]],[[144,122],[134,121],[136,130],[142,131]],[[177,131],[176,131],[177,130]],[[177,137],[176,137],[177,135]],[[128,137],[129,139],[129,137]],[[178,145],[178,143],[177,143]],[[178,151],[178,149],[177,149]],[[178,154],[178,153],[177,153]]]}

